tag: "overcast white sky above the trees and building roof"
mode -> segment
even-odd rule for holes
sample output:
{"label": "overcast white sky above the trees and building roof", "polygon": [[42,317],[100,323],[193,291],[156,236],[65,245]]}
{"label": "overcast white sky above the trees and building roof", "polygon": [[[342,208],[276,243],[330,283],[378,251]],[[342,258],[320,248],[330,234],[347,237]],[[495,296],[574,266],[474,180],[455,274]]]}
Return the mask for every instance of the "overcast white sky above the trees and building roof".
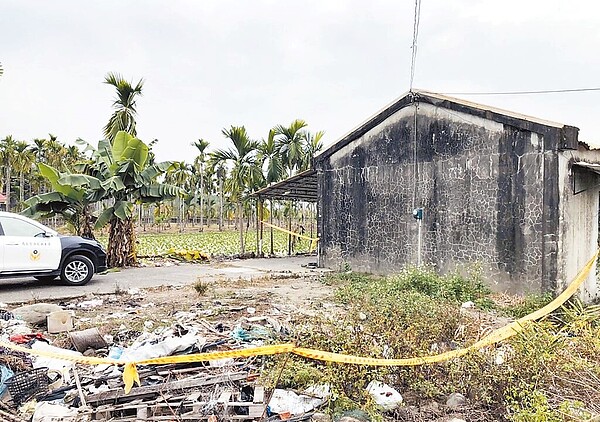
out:
{"label": "overcast white sky above the trees and building roof", "polygon": [[[302,118],[330,145],[409,87],[412,0],[0,0],[0,136],[96,143],[107,72],[136,82],[138,136],[191,162],[223,127]],[[414,86],[600,87],[600,2],[422,0]],[[600,143],[600,92],[460,96],[577,126]]]}

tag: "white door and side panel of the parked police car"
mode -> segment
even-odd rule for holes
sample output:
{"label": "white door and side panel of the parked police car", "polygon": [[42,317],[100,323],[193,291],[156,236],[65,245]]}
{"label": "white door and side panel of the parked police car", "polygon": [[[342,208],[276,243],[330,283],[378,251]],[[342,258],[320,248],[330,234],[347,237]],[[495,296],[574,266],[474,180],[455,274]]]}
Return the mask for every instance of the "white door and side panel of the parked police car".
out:
{"label": "white door and side panel of the parked police car", "polygon": [[46,236],[43,226],[27,220],[0,216],[2,235],[2,272],[56,270],[60,265],[58,236]]}

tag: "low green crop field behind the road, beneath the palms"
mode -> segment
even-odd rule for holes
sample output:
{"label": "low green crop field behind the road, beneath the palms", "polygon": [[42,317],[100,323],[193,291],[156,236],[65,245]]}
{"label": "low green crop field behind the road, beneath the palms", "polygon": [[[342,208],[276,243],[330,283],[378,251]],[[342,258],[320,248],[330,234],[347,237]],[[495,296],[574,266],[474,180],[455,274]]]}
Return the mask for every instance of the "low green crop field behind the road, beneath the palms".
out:
{"label": "low green crop field behind the road, beneath the palms", "polygon": [[[108,239],[103,236],[98,240],[107,245]],[[251,231],[245,234],[244,241],[246,252],[256,252],[256,232]],[[159,234],[138,234],[137,236],[137,255],[138,257],[160,257],[167,256],[176,251],[198,251],[208,256],[235,255],[240,252],[240,234],[237,231],[209,231],[198,233],[159,233]],[[263,232],[263,252],[270,253],[270,232]],[[310,242],[307,240],[296,239],[294,252],[308,252]],[[287,254],[288,238],[287,234],[273,232],[273,251],[276,255]]]}

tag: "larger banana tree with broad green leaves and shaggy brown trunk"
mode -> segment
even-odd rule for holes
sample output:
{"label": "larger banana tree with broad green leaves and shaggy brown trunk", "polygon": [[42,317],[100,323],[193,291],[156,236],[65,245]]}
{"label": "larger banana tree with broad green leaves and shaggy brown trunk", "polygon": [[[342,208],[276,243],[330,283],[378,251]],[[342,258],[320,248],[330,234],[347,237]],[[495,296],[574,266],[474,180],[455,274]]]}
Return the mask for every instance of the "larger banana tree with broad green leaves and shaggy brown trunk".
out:
{"label": "larger banana tree with broad green leaves and shaggy brown trunk", "polygon": [[134,203],[172,200],[180,194],[176,186],[159,183],[156,178],[167,172],[171,162],[149,164],[149,148],[141,140],[119,131],[112,143],[102,140],[92,155],[90,171],[101,180],[105,198],[114,200],[96,221],[96,228],[109,225],[108,265],[124,267],[137,262]]}

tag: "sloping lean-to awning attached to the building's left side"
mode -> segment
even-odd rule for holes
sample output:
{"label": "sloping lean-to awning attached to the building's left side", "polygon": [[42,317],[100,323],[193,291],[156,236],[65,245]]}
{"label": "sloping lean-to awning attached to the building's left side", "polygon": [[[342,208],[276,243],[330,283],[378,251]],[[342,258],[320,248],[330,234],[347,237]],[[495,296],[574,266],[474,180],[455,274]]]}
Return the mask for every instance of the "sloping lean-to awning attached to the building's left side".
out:
{"label": "sloping lean-to awning attached to the building's left side", "polygon": [[313,169],[303,171],[289,179],[254,192],[250,196],[264,199],[316,202],[317,172]]}

